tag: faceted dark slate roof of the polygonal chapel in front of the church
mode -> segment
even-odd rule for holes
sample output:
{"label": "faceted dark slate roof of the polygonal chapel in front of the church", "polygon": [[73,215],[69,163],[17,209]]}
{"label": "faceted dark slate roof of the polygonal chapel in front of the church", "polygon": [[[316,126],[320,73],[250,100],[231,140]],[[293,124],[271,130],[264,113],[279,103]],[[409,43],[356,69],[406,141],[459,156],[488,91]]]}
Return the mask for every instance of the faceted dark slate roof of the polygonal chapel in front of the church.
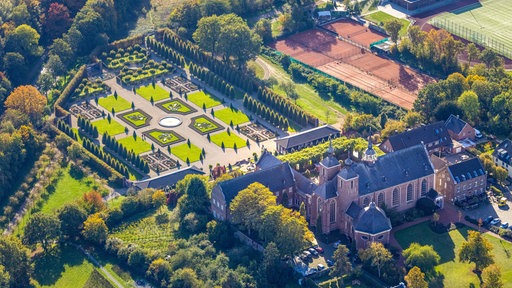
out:
{"label": "faceted dark slate roof of the polygonal chapel in front of the church", "polygon": [[391,230],[391,221],[386,217],[386,213],[372,202],[359,213],[354,230],[375,235]]}

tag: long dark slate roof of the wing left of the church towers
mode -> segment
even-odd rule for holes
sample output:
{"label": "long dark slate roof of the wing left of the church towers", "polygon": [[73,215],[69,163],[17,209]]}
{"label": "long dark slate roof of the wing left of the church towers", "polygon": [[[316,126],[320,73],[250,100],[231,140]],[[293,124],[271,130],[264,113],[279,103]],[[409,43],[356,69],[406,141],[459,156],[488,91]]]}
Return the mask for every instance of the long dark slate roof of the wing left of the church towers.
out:
{"label": "long dark slate roof of the wing left of the church towers", "polygon": [[295,184],[295,179],[293,178],[290,165],[288,163],[281,163],[280,165],[269,169],[258,170],[256,172],[220,182],[218,185],[224,193],[226,204],[229,205],[238,192],[247,188],[247,186],[254,182],[259,182],[270,191],[276,192],[293,186]]}

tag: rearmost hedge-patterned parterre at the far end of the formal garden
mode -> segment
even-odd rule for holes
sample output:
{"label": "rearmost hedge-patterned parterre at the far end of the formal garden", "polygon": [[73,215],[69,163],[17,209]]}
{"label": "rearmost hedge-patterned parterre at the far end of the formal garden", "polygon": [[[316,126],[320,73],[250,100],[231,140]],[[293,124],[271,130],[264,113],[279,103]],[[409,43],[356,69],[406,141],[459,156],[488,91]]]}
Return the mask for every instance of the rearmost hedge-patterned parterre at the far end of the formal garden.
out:
{"label": "rearmost hedge-patterned parterre at the far end of the formal garden", "polygon": [[101,53],[101,60],[105,63],[108,69],[121,69],[127,64],[140,64],[147,60],[146,49],[135,45],[126,49],[119,48],[117,50],[110,50],[109,52]]}

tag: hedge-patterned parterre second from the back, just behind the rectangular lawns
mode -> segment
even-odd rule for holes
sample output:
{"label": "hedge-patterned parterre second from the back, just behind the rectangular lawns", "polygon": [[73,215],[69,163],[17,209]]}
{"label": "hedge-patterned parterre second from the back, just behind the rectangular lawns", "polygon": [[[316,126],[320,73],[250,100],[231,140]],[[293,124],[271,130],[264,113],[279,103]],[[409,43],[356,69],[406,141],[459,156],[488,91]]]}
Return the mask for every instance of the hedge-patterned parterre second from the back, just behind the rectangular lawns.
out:
{"label": "hedge-patterned parterre second from the back, just behind the rectangular lawns", "polygon": [[118,78],[126,85],[133,85],[173,71],[172,65],[165,61],[158,64],[154,60],[149,60],[142,68],[130,69],[125,67],[121,69]]}

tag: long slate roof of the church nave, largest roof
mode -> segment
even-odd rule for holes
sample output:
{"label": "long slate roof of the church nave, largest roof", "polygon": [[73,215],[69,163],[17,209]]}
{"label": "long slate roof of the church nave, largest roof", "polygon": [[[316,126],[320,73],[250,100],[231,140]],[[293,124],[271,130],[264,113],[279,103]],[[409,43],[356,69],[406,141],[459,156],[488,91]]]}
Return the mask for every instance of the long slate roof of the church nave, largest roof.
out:
{"label": "long slate roof of the church nave, largest roof", "polygon": [[434,168],[423,144],[388,153],[373,165],[358,162],[338,172],[344,179],[359,176],[360,196],[432,174]]}

